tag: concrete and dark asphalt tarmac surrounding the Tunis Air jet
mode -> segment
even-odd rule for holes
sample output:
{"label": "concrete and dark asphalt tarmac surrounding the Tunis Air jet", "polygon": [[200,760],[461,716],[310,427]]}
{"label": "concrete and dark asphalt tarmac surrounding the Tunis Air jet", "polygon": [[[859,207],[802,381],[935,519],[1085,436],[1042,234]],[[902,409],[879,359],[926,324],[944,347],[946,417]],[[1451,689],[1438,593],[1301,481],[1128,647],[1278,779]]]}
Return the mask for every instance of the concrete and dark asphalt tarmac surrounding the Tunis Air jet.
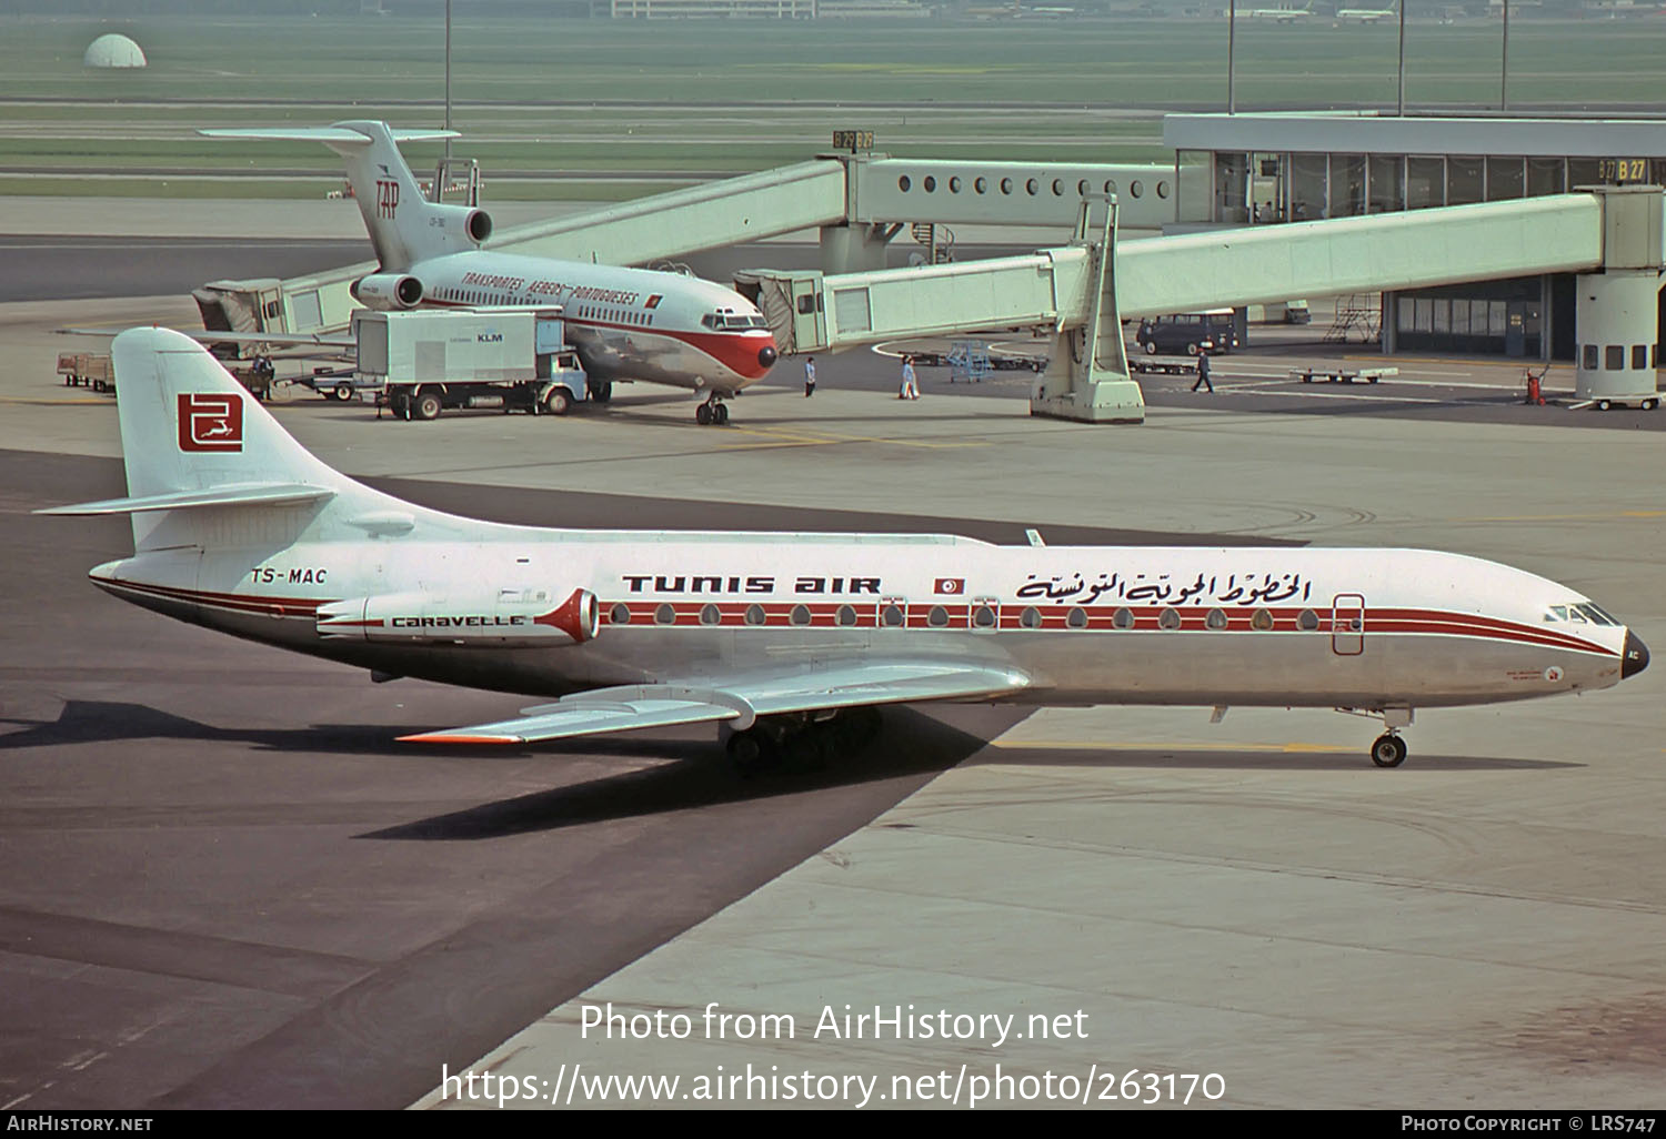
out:
{"label": "concrete and dark asphalt tarmac surrounding the Tunis Air jet", "polygon": [[[0,448],[22,453],[0,465],[20,601],[0,853],[22,868],[0,899],[18,931],[0,1001],[22,1026],[0,1102],[465,1106],[445,1062],[543,1101],[575,1089],[575,1064],[703,1076],[706,1094],[751,1064],[965,1106],[1001,1064],[1036,1089],[1075,1076],[1093,1106],[1123,1104],[1130,1071],[1215,1072],[1206,1102],[1240,1107],[1658,1106],[1659,666],[1583,698],[1421,713],[1394,771],[1366,759],[1374,723],[1276,709],[923,709],[853,771],[758,794],[701,763],[715,746],[693,729],[413,756],[388,739],[513,698],[370,686],[122,606],[82,578],[125,550],[122,523],[23,513],[120,486],[113,405],[50,373],[67,338],[48,330],[82,315],[0,306]],[[811,400],[780,371],[726,431],[643,386],[566,420],[275,413],[353,475],[530,521],[858,511],[1008,541],[1429,546],[1564,581],[1666,643],[1654,431],[1203,396],[1085,426],[933,376],[900,403],[893,365],[818,360]],[[685,1012],[693,1034],[586,1037],[583,1006],[610,1001]],[[731,1019],[710,1037],[711,1002],[791,1014],[795,1036],[758,1039],[753,1019],[736,1039]],[[875,1039],[871,1019],[818,1036],[846,1004],[948,1011],[951,1037]],[[1011,1014],[1025,1036],[960,1037],[958,1014]],[[836,1084],[830,1102],[858,1102],[860,1081]]]}

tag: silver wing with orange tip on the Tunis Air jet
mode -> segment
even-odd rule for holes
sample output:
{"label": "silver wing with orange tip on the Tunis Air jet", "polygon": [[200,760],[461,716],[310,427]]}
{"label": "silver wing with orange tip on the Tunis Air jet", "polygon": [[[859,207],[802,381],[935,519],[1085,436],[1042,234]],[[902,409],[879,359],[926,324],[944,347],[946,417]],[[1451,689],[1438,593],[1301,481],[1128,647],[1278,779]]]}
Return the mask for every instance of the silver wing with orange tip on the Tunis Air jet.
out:
{"label": "silver wing with orange tip on the Tunis Air jet", "polygon": [[521,709],[518,719],[400,736],[410,743],[538,743],[605,731],[736,721],[916,699],[966,699],[1030,686],[1018,668],[965,661],[853,661],[818,669],[738,673],[688,683],[626,684]]}

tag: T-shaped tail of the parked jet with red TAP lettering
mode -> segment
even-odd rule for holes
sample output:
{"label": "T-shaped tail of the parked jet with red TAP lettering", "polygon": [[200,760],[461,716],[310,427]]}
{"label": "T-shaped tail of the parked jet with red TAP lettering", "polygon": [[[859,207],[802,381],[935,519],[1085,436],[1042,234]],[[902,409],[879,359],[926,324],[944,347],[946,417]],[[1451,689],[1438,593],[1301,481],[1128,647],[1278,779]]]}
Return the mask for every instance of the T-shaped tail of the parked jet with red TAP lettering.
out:
{"label": "T-shaped tail of the parked jet with red TAP lettering", "polygon": [[455,130],[392,130],[375,120],[353,120],[333,127],[277,127],[200,130],[210,138],[253,138],[273,142],[318,142],[342,155],[353,198],[370,231],[385,273],[403,273],[415,263],[446,253],[480,248],[491,236],[485,210],[428,201],[400,142],[455,138]]}

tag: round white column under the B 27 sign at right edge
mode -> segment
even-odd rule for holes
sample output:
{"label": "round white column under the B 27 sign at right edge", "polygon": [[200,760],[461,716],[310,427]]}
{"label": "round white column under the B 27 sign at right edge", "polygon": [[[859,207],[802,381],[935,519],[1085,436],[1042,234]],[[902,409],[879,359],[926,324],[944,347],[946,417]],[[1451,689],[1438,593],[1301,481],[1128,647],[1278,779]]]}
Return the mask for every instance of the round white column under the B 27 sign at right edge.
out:
{"label": "round white column under the B 27 sign at right edge", "polygon": [[1588,187],[1603,198],[1603,268],[1574,278],[1579,341],[1574,395],[1593,403],[1644,403],[1654,393],[1659,341],[1659,187]]}

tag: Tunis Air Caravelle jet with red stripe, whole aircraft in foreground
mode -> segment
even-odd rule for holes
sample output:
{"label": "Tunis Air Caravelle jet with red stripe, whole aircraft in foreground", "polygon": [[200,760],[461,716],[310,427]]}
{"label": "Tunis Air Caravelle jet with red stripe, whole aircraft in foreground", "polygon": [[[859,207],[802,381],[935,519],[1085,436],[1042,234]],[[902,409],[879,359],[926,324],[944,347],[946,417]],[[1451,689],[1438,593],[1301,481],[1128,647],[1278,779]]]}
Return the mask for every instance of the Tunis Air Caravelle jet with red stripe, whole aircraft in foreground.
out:
{"label": "Tunis Air Caravelle jet with red stripe, whole aircraft in foreground", "polygon": [[1648,649],[1568,586],[1424,550],[995,546],[940,535],[540,530],[403,503],[303,450],[193,340],[113,346],[133,520],[93,583],[372,669],[553,698],[425,743],[718,723],[743,766],[826,756],[876,706],[1414,708],[1608,688]]}

